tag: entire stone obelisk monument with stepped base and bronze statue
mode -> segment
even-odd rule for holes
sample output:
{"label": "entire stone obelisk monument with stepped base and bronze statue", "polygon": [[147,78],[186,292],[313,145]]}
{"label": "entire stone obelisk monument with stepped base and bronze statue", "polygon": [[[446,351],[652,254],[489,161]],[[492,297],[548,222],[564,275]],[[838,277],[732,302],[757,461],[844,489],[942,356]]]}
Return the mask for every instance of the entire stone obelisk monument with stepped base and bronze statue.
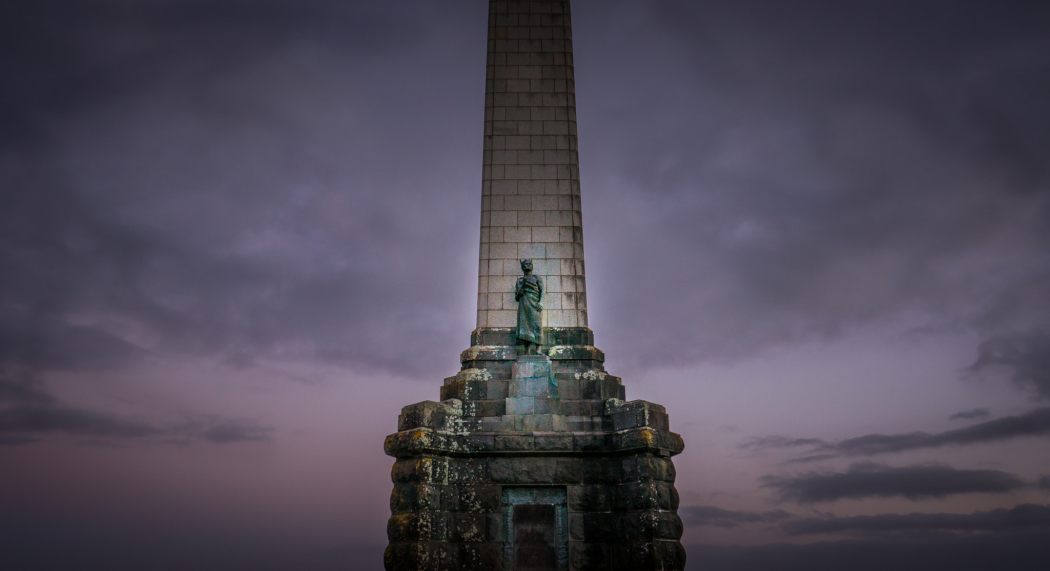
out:
{"label": "entire stone obelisk monument with stepped base and bronze statue", "polygon": [[568,1],[488,13],[478,326],[386,437],[388,571],[682,569],[663,406],[587,327]]}

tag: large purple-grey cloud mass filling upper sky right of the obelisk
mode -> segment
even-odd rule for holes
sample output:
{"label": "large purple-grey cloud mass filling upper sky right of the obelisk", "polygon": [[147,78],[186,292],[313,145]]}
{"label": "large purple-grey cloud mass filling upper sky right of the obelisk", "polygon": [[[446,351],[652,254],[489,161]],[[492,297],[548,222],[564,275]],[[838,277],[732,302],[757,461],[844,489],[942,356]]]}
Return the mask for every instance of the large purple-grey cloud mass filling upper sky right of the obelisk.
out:
{"label": "large purple-grey cloud mass filling upper sky right of the obelisk", "polygon": [[658,2],[615,36],[602,12],[575,7],[580,149],[617,351],[1046,322],[1045,4]]}

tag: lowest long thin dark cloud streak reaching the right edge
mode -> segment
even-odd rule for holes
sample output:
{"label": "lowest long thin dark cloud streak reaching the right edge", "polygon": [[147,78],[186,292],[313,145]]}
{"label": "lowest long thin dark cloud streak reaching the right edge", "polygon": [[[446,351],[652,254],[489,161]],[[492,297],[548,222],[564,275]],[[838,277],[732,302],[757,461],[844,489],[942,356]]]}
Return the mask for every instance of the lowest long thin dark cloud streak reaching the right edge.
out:
{"label": "lowest long thin dark cloud streak reaching the right edge", "polygon": [[850,517],[805,517],[780,525],[791,535],[856,531],[862,533],[908,530],[1002,531],[1050,528],[1050,506],[1022,504],[973,513],[881,513]]}

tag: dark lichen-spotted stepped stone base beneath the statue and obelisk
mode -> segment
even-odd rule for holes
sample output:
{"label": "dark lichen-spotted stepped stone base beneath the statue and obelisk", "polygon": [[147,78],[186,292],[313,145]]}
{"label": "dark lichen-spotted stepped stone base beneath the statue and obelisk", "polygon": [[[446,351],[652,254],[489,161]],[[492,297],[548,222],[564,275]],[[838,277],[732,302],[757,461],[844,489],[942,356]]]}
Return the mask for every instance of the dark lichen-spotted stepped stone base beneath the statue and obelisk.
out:
{"label": "dark lichen-spotted stepped stone base beneath the statue and obelisk", "polygon": [[551,569],[685,568],[670,460],[681,437],[663,406],[625,402],[590,330],[573,330],[545,332],[578,341],[548,356],[477,330],[441,402],[402,409],[384,446],[397,459],[388,571],[516,569],[514,509],[533,505],[552,506]]}

